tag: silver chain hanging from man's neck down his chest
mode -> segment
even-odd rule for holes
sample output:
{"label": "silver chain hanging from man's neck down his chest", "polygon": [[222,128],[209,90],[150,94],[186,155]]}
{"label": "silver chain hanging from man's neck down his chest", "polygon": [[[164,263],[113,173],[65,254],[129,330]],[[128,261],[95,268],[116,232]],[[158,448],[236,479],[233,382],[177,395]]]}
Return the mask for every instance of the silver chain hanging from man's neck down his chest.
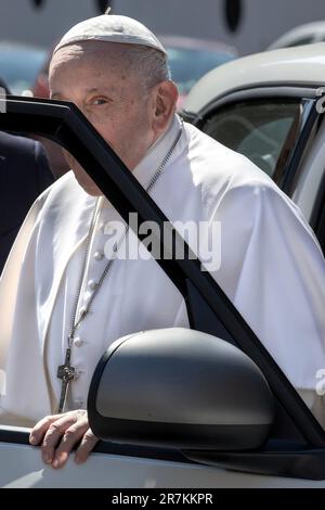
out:
{"label": "silver chain hanging from man's neck down his chest", "polygon": [[[152,177],[150,183],[147,184],[147,187],[145,188],[145,191],[147,193],[151,193],[151,191],[154,189],[157,180],[159,179],[160,175],[162,174],[162,170],[165,168],[165,166],[167,165],[171,154],[173,153],[176,146],[178,145],[180,139],[181,139],[181,135],[182,135],[182,131],[183,131],[183,122],[181,119],[181,129],[179,130],[178,132],[178,136],[176,137],[171,148],[169,149],[168,153],[166,154],[165,158],[162,160],[159,168],[155,171],[154,176]],[[100,199],[99,199],[100,200]],[[81,289],[82,289],[82,282],[84,280],[84,273],[86,273],[86,266],[87,266],[87,260],[89,258],[89,252],[90,252],[90,246],[91,246],[91,239],[92,239],[92,235],[93,235],[93,232],[94,232],[94,228],[95,228],[95,222],[96,222],[96,211],[98,211],[98,205],[99,205],[99,200],[96,201],[95,203],[95,206],[94,206],[94,211],[92,213],[92,219],[91,219],[91,224],[90,224],[90,228],[89,228],[89,231],[88,231],[88,234],[87,234],[87,238],[86,238],[86,243],[87,243],[87,248],[86,248],[86,252],[84,252],[84,256],[83,256],[83,262],[82,262],[82,269],[80,271],[80,278],[79,278],[79,282],[78,282],[78,288],[77,288],[77,295],[76,295],[76,301],[75,301],[75,305],[74,305],[74,313],[73,313],[73,320],[72,320],[72,329],[70,329],[70,333],[68,335],[68,347],[72,346],[72,343],[73,343],[73,340],[75,337],[75,332],[77,330],[77,328],[80,326],[80,323],[82,322],[82,320],[84,319],[84,317],[88,315],[89,310],[90,310],[90,307],[95,298],[95,296],[98,295],[104,280],[105,280],[105,277],[107,276],[107,273],[109,272],[112,266],[113,266],[113,263],[115,260],[115,258],[112,258],[107,262],[103,272],[102,272],[102,276],[99,280],[99,282],[96,283],[96,286],[95,286],[95,290],[94,292],[92,293],[87,306],[84,307],[82,314],[80,315],[79,319],[76,321],[76,317],[77,317],[77,310],[78,310],[78,304],[79,304],[79,299],[80,299],[80,294],[81,294]],[[123,240],[126,239],[127,234],[128,234],[128,231],[129,231],[129,225],[126,226],[126,229],[125,229],[125,232],[121,237],[121,239],[119,240],[118,243],[116,243],[113,247],[113,251],[115,253],[118,252],[118,250],[120,248]]]}

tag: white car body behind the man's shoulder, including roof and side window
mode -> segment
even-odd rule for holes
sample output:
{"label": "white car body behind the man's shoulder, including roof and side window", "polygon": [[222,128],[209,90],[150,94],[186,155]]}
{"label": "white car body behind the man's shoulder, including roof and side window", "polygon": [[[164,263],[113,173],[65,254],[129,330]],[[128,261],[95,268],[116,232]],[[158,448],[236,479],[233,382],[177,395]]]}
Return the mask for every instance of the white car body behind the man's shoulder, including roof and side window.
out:
{"label": "white car body behind the man's shoulder, including roof and side window", "polygon": [[264,170],[325,251],[325,43],[224,64],[192,89],[184,116]]}

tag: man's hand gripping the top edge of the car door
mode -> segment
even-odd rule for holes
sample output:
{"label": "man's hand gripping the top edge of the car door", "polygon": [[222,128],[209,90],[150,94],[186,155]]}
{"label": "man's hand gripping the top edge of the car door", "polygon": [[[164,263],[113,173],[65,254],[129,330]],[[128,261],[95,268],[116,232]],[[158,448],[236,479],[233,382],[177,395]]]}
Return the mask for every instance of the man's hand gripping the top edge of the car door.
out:
{"label": "man's hand gripping the top edge of the car door", "polygon": [[86,410],[52,415],[40,420],[31,430],[29,443],[40,445],[42,459],[52,468],[62,468],[76,443],[80,442],[75,455],[77,463],[84,462],[98,443],[89,429]]}

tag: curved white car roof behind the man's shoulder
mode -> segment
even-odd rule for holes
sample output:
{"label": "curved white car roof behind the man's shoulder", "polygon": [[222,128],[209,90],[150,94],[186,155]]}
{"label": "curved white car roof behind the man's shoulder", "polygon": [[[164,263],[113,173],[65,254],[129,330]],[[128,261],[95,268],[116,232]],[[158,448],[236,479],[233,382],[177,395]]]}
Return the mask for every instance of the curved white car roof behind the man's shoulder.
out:
{"label": "curved white car roof behind the man's shoulder", "polygon": [[198,113],[232,90],[275,84],[324,86],[325,42],[266,51],[223,64],[197,81],[184,110]]}

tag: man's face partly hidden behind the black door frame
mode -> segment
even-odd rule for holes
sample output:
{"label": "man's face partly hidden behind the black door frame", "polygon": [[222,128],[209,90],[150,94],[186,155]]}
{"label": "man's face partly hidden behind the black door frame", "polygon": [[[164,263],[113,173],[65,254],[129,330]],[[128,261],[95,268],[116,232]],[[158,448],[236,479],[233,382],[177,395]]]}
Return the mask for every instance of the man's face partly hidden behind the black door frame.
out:
{"label": "man's face partly hidden behind the black door frame", "polygon": [[[155,141],[153,101],[139,76],[120,58],[123,44],[87,41],[61,48],[50,65],[52,99],[73,101],[132,170]],[[68,156],[79,184],[102,194],[82,167]]]}

